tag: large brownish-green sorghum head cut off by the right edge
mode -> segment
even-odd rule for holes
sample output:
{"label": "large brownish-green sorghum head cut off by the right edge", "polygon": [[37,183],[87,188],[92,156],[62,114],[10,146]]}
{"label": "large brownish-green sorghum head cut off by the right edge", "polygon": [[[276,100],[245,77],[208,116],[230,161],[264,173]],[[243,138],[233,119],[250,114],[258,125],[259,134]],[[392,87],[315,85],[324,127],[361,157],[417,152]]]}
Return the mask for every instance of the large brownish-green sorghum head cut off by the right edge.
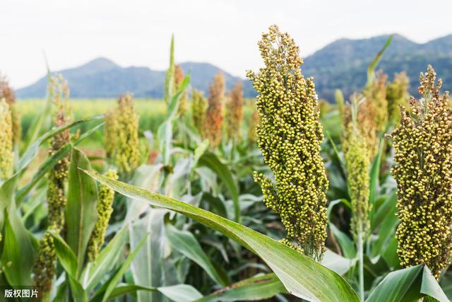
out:
{"label": "large brownish-green sorghum head cut off by the right edge", "polygon": [[441,80],[428,66],[421,74],[420,100],[402,108],[393,131],[397,181],[396,231],[403,267],[424,264],[438,279],[452,256],[452,109],[441,95]]}

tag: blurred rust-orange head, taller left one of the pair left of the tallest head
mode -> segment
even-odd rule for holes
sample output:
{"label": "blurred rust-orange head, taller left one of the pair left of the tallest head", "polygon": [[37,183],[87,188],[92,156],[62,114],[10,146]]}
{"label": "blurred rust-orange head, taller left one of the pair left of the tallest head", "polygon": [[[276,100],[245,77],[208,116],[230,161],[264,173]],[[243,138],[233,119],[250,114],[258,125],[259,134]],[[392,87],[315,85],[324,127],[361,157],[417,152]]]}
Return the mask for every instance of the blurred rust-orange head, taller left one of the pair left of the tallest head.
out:
{"label": "blurred rust-orange head, taller left one of the pair left of the tallest head", "polygon": [[206,112],[206,132],[210,146],[218,146],[221,141],[221,127],[224,120],[225,76],[221,72],[215,75],[210,84],[208,108]]}

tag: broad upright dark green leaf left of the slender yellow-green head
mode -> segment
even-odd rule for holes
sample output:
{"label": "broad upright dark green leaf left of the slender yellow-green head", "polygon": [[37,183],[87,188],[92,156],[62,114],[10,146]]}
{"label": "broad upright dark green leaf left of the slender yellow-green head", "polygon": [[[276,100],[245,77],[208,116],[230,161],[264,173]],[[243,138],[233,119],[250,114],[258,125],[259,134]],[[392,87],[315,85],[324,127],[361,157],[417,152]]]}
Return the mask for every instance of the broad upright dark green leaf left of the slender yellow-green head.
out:
{"label": "broad upright dark green leaf left of the slender yellow-green head", "polygon": [[77,255],[77,277],[85,263],[85,251],[97,221],[97,187],[81,169],[90,169],[90,162],[82,151],[74,148],[69,165],[68,197],[66,204],[67,243]]}

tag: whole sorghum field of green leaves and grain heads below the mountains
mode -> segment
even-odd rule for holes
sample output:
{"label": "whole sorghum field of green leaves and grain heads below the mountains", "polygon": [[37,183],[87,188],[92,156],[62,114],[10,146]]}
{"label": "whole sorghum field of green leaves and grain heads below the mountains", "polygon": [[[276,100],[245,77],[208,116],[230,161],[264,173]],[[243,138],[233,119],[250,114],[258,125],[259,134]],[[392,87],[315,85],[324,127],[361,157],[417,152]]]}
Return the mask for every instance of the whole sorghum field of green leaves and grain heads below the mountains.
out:
{"label": "whole sorghum field of green leaves and grain heads below the mountains", "polygon": [[416,98],[403,70],[387,80],[390,43],[335,104],[276,25],[246,50],[263,60],[247,72],[256,99],[241,83],[225,91],[222,74],[192,89],[174,45],[164,100],[71,100],[51,73],[45,100],[15,100],[1,79],[1,288],[43,301],[449,301],[452,108],[434,66]]}

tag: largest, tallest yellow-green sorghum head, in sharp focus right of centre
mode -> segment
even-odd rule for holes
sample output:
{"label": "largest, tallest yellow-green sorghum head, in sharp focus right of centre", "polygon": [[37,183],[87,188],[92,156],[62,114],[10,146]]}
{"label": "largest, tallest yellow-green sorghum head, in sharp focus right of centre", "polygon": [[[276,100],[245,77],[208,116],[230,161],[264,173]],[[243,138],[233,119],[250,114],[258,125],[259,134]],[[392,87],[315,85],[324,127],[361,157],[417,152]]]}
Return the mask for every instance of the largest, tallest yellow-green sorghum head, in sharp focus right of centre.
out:
{"label": "largest, tallest yellow-green sorghum head, in sharp focus right of centre", "polygon": [[314,81],[304,79],[299,49],[287,33],[270,26],[258,42],[265,67],[247,72],[258,92],[258,146],[275,183],[262,174],[263,201],[278,212],[305,255],[321,260],[326,240],[328,180],[320,155],[323,140]]}

